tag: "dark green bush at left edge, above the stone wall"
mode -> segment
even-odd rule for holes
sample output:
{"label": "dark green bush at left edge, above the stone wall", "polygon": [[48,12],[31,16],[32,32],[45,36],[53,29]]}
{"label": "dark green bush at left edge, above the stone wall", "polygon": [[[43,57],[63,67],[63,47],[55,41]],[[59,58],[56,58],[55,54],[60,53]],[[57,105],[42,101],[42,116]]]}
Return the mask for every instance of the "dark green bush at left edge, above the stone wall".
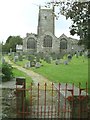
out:
{"label": "dark green bush at left edge, above the stone wall", "polygon": [[3,74],[2,82],[11,80],[13,77],[12,66],[6,62],[3,63],[2,64],[2,74]]}

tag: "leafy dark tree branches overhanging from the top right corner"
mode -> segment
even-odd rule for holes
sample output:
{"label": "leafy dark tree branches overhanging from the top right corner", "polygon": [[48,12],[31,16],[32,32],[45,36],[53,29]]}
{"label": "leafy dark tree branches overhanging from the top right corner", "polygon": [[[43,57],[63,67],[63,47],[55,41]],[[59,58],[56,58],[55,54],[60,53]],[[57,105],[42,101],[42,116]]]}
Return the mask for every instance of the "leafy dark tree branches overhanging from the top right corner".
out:
{"label": "leafy dark tree branches overhanging from the top right corner", "polygon": [[79,43],[84,44],[86,48],[90,48],[88,38],[90,33],[90,1],[67,0],[64,2],[59,0],[59,2],[48,2],[47,5],[59,8],[58,14],[55,15],[56,17],[62,14],[66,16],[66,19],[70,18],[73,21],[72,26],[70,26],[71,35],[77,34],[80,36]]}

